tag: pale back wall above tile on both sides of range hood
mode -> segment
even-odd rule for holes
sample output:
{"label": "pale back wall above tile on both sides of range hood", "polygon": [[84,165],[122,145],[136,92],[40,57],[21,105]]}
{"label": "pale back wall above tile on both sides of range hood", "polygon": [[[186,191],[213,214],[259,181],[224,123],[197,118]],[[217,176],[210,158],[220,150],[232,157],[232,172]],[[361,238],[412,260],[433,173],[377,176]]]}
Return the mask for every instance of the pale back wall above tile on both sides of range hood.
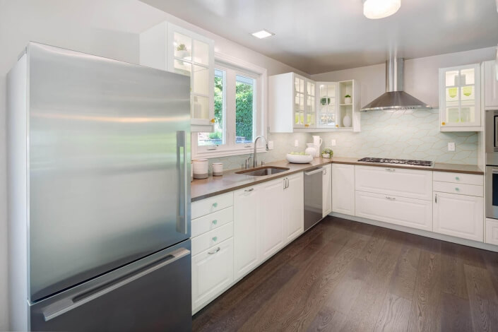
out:
{"label": "pale back wall above tile on both sides of range hood", "polygon": [[[405,60],[405,91],[434,108],[439,107],[439,68],[475,64],[491,60],[496,47]],[[361,105],[386,92],[386,65],[376,64],[311,76],[314,81],[356,79],[361,85]]]}

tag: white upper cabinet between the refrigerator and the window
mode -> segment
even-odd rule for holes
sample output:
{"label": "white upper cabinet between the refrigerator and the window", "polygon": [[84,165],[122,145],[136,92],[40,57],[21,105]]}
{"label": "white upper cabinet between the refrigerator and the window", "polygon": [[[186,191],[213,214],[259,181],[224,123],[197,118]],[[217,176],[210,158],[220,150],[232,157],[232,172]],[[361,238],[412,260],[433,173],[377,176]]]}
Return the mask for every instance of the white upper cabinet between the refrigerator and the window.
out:
{"label": "white upper cabinet between the refrigerator and the window", "polygon": [[213,40],[163,22],[141,33],[140,64],[190,76],[191,129],[213,131]]}

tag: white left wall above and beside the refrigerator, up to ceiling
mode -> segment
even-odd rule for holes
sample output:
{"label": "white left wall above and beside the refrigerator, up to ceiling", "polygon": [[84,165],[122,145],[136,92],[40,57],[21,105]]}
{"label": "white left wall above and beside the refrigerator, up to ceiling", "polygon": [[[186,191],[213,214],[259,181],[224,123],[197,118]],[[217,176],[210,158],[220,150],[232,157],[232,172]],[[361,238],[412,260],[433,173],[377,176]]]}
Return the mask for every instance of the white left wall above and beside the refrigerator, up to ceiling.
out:
{"label": "white left wall above and beside the refrigerator, up to ceiling", "polygon": [[206,32],[138,0],[0,0],[0,331],[8,329],[6,220],[6,74],[29,41],[138,64],[138,34],[170,20],[215,40],[216,52],[262,66],[290,66]]}

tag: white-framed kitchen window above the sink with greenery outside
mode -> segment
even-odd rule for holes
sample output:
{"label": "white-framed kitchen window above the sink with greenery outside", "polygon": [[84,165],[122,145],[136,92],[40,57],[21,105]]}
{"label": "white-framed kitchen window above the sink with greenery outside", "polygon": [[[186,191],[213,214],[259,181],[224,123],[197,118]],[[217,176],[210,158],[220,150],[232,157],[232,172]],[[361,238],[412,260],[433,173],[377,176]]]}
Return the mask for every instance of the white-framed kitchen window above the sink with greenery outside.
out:
{"label": "white-framed kitchen window above the sink with greenery outside", "polygon": [[[266,70],[256,66],[216,61],[214,131],[192,134],[193,158],[251,153],[254,138],[264,132],[263,76]],[[264,150],[262,143],[258,150]]]}

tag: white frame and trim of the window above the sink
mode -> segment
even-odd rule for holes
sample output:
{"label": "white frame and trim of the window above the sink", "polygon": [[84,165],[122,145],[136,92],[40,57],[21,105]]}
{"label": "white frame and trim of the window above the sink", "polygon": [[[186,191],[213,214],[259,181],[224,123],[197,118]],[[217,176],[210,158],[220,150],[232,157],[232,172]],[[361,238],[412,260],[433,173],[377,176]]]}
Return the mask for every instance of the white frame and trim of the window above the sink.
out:
{"label": "white frame and trim of the window above the sink", "polygon": [[[256,127],[254,138],[259,135],[266,136],[266,95],[268,88],[266,69],[220,53],[215,53],[215,69],[233,71],[234,78],[236,78],[237,75],[254,78],[256,82],[256,89],[254,90],[254,95],[256,96],[256,100],[254,101],[256,117],[253,119]],[[225,75],[225,77],[226,76],[228,75]],[[225,86],[225,90],[232,88],[233,93],[235,94],[235,85],[233,87],[229,87],[227,82],[225,82]],[[225,129],[225,144],[215,146],[215,148],[213,148],[213,146],[198,146],[197,132],[192,132],[192,159],[219,158],[230,155],[245,155],[252,153],[254,148],[253,143],[235,143],[235,108],[233,109],[233,112],[230,112],[230,110],[227,109],[226,95],[224,96],[224,99],[223,104],[225,109],[223,112],[225,112],[225,121],[223,123],[223,127]],[[257,151],[259,153],[266,152],[264,143],[261,140],[258,142]]]}

